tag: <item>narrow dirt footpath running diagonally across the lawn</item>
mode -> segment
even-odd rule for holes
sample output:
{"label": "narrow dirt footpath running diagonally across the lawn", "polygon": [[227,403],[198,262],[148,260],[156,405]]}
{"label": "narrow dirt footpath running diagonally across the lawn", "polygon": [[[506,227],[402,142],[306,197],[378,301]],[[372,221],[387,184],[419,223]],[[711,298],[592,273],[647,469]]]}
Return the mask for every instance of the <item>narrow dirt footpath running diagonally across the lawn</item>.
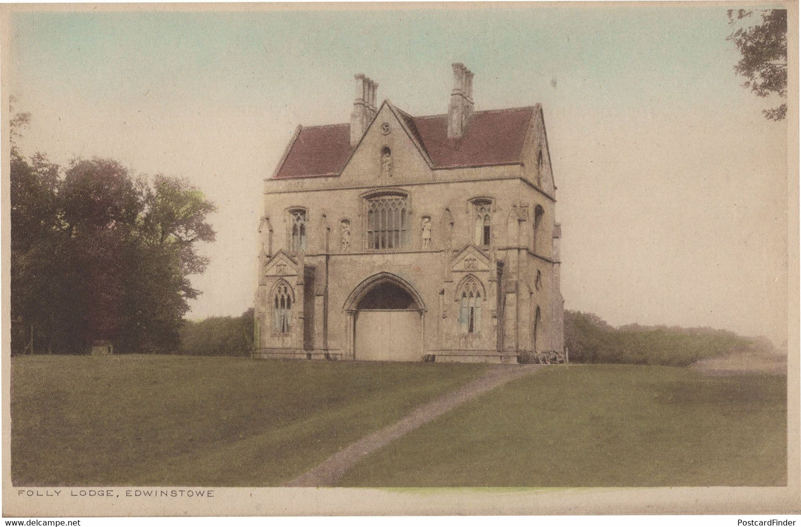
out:
{"label": "narrow dirt footpath running diagonally across the lawn", "polygon": [[501,384],[517,379],[517,377],[537,372],[541,368],[544,368],[541,364],[496,366],[485,375],[470,381],[461,388],[457,388],[453,392],[439,396],[430,403],[416,408],[412,413],[396,423],[389,424],[379,431],[372,432],[372,434],[362,437],[359,441],[351,443],[314,469],[285,483],[284,486],[330,487],[336,484],[336,481],[339,481],[344,473],[353,465],[356,465],[356,462],[362,457],[388,445],[390,441],[404,436],[415,428],[420,428],[423,424],[436,419],[451,408],[456,408],[460,404],[473,399],[473,397],[489,392],[489,390],[497,388]]}

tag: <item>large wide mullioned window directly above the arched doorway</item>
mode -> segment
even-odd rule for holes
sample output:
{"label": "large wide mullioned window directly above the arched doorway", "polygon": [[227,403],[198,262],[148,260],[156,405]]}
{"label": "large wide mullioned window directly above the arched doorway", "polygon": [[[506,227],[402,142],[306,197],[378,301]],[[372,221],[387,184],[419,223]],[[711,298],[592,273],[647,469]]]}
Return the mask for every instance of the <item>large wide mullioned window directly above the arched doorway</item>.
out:
{"label": "large wide mullioned window directly above the arched doorway", "polygon": [[405,195],[368,198],[367,246],[395,249],[409,244],[409,200]]}

